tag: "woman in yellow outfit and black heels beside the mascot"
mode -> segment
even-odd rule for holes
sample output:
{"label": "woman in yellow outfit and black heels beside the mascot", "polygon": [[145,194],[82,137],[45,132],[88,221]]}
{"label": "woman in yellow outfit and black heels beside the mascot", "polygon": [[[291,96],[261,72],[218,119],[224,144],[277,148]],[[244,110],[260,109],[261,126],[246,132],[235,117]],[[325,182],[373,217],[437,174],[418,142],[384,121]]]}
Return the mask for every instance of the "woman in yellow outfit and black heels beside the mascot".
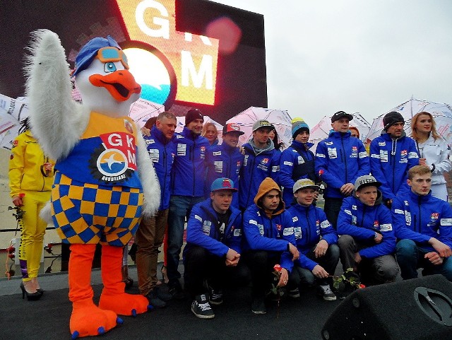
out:
{"label": "woman in yellow outfit and black heels beside the mascot", "polygon": [[37,282],[37,272],[47,226],[39,214],[50,199],[54,161],[44,155],[30,131],[28,119],[22,124],[19,131],[22,133],[14,139],[11,148],[9,187],[13,204],[24,211],[19,246],[22,297],[37,300],[44,292]]}

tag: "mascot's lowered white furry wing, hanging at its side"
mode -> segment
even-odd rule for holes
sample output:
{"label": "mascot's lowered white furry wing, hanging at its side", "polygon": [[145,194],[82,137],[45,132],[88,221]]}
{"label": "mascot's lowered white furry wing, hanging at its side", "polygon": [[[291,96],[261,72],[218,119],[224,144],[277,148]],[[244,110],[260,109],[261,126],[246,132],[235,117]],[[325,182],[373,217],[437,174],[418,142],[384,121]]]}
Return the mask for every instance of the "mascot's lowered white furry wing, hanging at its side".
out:
{"label": "mascot's lowered white furry wing, hanging at its side", "polygon": [[143,186],[144,204],[143,216],[153,216],[160,206],[160,184],[155,174],[152,160],[149,158],[143,136],[138,136],[138,175]]}

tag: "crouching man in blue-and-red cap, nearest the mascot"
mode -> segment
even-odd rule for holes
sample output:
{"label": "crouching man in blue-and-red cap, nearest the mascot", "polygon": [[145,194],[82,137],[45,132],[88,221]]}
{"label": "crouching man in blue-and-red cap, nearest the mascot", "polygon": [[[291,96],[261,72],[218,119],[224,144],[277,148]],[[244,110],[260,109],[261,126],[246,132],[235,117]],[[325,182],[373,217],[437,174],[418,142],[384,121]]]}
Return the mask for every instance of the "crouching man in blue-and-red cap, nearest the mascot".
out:
{"label": "crouching man in blue-and-red cap, nearest the mascot", "polygon": [[191,311],[201,319],[215,316],[210,303],[222,303],[226,283],[242,286],[249,281],[249,269],[240,258],[242,214],[231,206],[237,189],[223,177],[210,190],[210,198],[191,209],[184,248],[185,288],[194,299]]}

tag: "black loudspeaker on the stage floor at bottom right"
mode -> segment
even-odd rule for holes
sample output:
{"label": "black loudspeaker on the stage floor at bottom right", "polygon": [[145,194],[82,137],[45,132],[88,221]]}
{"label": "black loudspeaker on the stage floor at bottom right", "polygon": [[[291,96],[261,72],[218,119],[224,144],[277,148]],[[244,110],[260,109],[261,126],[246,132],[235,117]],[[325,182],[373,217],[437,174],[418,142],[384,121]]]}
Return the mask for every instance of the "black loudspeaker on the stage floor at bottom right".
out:
{"label": "black loudspeaker on the stage floor at bottom right", "polygon": [[452,339],[452,283],[442,275],[348,295],[323,325],[323,340]]}

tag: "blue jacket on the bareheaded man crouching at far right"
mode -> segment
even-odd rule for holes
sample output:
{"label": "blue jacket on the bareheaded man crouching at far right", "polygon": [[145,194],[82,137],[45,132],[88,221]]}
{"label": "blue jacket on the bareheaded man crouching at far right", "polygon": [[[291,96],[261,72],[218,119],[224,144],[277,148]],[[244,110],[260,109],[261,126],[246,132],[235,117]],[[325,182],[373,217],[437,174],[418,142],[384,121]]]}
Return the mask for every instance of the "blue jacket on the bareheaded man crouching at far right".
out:
{"label": "blue jacket on the bareheaded man crouching at far right", "polygon": [[398,239],[410,239],[420,247],[434,251],[430,238],[452,247],[452,208],[448,202],[428,195],[410,192],[393,200],[393,223]]}

